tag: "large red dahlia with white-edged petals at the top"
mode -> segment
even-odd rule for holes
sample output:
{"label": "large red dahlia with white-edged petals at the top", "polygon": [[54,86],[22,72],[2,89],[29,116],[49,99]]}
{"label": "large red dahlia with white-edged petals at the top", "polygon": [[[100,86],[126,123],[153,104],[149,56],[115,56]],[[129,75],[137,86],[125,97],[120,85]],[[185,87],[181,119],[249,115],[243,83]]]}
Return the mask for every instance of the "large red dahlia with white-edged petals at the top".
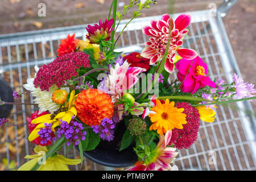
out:
{"label": "large red dahlia with white-edged petals at the top", "polygon": [[171,32],[171,42],[164,68],[167,72],[174,72],[174,60],[176,53],[184,59],[194,59],[197,56],[193,49],[181,48],[181,40],[188,30],[191,22],[191,15],[182,14],[174,20],[168,14],[164,14],[160,20],[152,20],[151,26],[143,28],[144,34],[150,36],[150,41],[146,43],[147,47],[142,50],[141,56],[150,59],[150,65],[160,61],[168,44],[168,37]]}

